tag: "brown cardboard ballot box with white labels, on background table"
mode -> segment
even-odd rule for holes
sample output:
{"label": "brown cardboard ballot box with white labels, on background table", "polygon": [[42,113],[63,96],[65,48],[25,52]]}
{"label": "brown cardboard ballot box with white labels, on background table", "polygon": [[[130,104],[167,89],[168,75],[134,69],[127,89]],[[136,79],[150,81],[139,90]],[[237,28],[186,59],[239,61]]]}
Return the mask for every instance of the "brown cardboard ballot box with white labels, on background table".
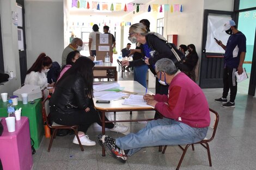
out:
{"label": "brown cardboard ballot box with white labels, on background table", "polygon": [[96,60],[104,62],[108,53],[110,61],[113,61],[112,50],[112,34],[96,34]]}

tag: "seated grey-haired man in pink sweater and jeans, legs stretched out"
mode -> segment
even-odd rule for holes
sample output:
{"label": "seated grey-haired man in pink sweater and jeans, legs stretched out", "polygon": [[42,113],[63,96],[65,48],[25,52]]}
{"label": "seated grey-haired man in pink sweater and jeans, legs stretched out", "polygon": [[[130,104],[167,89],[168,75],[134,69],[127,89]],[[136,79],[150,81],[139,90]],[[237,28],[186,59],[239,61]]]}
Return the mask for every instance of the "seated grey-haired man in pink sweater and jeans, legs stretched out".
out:
{"label": "seated grey-haired man in pink sweater and jeans, legs stretched out", "polygon": [[168,95],[145,95],[143,98],[163,118],[149,121],[136,134],[117,139],[98,136],[101,146],[109,149],[113,157],[121,162],[142,147],[194,143],[203,140],[208,131],[209,106],[200,87],[180,72],[170,59],[158,60],[155,72],[159,83],[169,85]]}

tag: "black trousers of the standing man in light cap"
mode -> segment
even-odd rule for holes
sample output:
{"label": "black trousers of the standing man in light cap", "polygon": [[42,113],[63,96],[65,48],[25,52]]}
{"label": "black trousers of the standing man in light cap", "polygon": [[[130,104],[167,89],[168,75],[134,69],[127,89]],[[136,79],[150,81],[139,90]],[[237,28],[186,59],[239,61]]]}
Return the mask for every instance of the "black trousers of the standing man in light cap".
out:
{"label": "black trousers of the standing man in light cap", "polygon": [[230,89],[230,102],[235,102],[237,92],[237,82],[235,77],[236,68],[225,66],[223,72],[223,93],[222,97],[227,98]]}

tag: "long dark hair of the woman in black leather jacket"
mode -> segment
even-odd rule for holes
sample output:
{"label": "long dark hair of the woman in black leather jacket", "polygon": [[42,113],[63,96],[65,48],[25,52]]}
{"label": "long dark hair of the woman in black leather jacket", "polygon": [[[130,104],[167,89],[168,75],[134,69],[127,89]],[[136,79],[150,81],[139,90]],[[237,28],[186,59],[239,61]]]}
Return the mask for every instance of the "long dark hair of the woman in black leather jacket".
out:
{"label": "long dark hair of the woman in black leather jacket", "polygon": [[94,67],[94,62],[89,59],[86,56],[81,56],[76,60],[76,62],[72,65],[72,67],[69,68],[68,71],[66,71],[62,78],[60,78],[57,83],[59,84],[63,79],[68,77],[69,75],[75,75],[75,74],[80,74],[84,82],[86,83],[88,87],[88,96],[93,97],[93,67]]}

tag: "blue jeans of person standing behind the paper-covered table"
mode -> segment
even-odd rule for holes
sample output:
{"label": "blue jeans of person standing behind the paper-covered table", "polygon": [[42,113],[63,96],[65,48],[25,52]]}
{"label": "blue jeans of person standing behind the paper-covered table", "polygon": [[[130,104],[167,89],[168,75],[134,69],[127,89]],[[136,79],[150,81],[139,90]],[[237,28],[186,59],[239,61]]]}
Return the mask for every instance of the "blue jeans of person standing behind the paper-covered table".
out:
{"label": "blue jeans of person standing behind the paper-covered table", "polygon": [[147,73],[148,73],[148,65],[136,66],[134,67],[134,80],[138,81],[139,84],[143,85],[147,88]]}

